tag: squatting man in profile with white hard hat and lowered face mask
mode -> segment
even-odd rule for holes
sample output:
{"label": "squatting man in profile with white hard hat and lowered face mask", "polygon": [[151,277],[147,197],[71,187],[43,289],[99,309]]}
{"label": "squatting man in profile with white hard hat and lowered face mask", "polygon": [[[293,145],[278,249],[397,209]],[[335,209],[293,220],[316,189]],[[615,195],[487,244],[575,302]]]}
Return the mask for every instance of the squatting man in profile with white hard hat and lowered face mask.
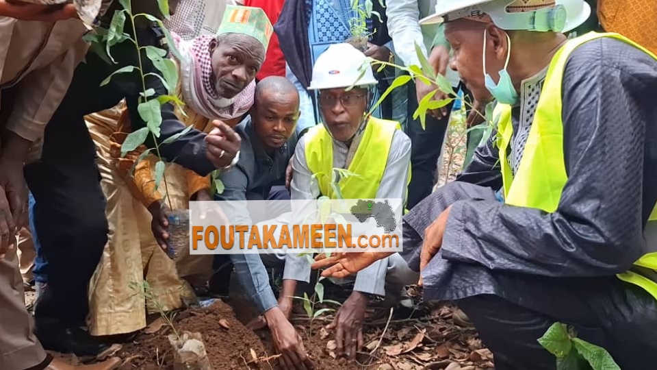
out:
{"label": "squatting man in profile with white hard hat and lowered face mask", "polygon": [[[444,0],[452,69],[495,132],[456,182],[404,217],[425,299],[452,300],[495,369],[554,369],[537,341],[572,325],[623,370],[657,350],[657,57],[618,34],[563,32],[582,0]],[[314,267],[341,277],[383,254]],[[573,349],[576,351],[576,349]]]}

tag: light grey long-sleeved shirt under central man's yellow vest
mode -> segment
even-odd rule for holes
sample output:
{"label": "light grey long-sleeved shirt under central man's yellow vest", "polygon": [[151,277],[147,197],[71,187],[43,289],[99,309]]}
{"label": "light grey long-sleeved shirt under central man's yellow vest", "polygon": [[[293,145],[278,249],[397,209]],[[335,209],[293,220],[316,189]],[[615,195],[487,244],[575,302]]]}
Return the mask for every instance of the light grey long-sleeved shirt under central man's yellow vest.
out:
{"label": "light grey long-sleeved shirt under central man's yellow vest", "polygon": [[[361,136],[365,130],[362,125],[357,136]],[[357,143],[355,137],[353,142]],[[316,182],[311,181],[313,173],[308,168],[305,156],[307,136],[300,138],[292,161],[292,200],[295,199],[317,199],[320,197],[320,188]],[[355,152],[357,147],[348,147],[345,143],[333,140],[333,167],[346,169],[347,158],[350,152]],[[403,199],[406,204],[407,181],[411,171],[411,139],[404,132],[397,130],[392,137],[388,159],[381,179],[381,185],[376,191],[377,199]],[[385,295],[385,272],[387,259],[372,264],[372,266],[360,271],[355,280],[354,290],[376,295]],[[283,278],[308,282],[310,280],[310,262],[305,256],[289,255],[285,264]]]}

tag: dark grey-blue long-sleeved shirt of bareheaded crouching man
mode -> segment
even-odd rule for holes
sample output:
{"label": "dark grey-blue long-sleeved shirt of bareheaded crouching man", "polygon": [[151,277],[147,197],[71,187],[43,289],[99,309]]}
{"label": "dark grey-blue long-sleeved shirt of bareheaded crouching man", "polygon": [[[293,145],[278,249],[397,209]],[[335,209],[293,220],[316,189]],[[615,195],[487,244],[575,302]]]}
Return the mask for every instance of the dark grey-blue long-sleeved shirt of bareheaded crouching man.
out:
{"label": "dark grey-blue long-sleeved shirt of bareheaded crouching man", "polygon": [[[285,169],[296,145],[296,133],[293,133],[281,149],[270,155],[257,138],[250,116],[235,127],[235,132],[242,138],[240,160],[233,169],[220,174],[224,191],[216,195],[215,199],[246,201],[248,195],[254,193],[267,199],[272,184],[285,180]],[[247,208],[230,208],[228,204],[222,207],[227,208],[231,223],[252,224]],[[239,236],[235,235],[235,238]],[[240,284],[246,290],[248,297],[255,302],[260,313],[277,306],[267,270],[258,254],[231,254],[231,261]]]}

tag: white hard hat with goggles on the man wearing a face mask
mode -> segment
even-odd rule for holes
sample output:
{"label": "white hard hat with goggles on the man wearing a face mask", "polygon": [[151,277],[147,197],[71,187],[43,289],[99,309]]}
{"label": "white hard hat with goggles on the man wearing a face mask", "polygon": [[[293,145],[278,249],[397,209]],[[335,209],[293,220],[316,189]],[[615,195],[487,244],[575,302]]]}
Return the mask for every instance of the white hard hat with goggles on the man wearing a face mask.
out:
{"label": "white hard hat with goggles on the man wearing a face mask", "polygon": [[[465,16],[488,14],[502,29],[569,32],[591,15],[584,0],[438,0],[435,14],[420,20],[421,25],[443,23]],[[506,12],[511,5],[527,10]],[[544,5],[541,7],[541,5]],[[533,10],[532,10],[533,8]]]}

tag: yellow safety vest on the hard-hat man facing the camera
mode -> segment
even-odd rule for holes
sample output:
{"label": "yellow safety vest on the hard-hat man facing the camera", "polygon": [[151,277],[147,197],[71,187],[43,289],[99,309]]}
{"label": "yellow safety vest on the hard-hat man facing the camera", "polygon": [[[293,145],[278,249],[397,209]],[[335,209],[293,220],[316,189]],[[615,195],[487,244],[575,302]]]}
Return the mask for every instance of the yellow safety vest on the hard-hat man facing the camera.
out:
{"label": "yellow safety vest on the hard-hat man facing the camera", "polygon": [[[346,171],[353,175],[339,176],[339,191],[343,199],[376,199],[390,153],[392,137],[401,130],[398,122],[370,117],[361,142]],[[306,162],[318,181],[320,193],[338,199],[331,186],[333,172],[333,138],[324,125],[316,125],[306,134]],[[410,172],[410,171],[409,171]],[[407,179],[411,181],[411,175]],[[406,199],[404,199],[404,204]]]}

